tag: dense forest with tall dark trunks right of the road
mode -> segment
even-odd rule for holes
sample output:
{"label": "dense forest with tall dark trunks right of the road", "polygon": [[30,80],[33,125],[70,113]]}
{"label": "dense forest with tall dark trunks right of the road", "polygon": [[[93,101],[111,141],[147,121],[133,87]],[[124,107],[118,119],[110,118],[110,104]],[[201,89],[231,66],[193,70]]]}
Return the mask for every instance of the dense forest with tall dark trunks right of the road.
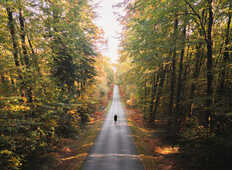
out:
{"label": "dense forest with tall dark trunks right of the road", "polygon": [[[231,169],[232,1],[125,1],[117,83],[191,169]],[[191,167],[191,168],[190,168]]]}

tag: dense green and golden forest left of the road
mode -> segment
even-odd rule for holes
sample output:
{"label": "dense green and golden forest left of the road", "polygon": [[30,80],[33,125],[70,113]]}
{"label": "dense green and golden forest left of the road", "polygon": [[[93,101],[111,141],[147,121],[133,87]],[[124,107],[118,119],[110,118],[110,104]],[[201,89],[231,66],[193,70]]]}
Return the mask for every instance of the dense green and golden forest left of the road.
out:
{"label": "dense green and golden forest left of the road", "polygon": [[0,169],[38,169],[76,138],[113,82],[87,0],[0,2]]}

